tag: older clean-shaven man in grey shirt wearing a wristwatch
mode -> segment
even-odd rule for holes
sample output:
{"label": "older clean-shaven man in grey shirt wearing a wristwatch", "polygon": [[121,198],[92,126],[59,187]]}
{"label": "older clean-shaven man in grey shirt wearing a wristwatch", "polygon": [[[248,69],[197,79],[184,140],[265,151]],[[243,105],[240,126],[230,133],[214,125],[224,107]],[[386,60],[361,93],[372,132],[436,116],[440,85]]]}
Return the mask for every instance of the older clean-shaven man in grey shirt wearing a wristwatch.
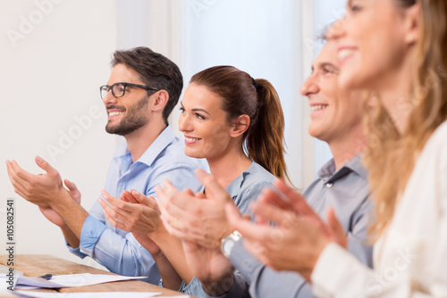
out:
{"label": "older clean-shaven man in grey shirt wearing a wristwatch", "polygon": [[[336,45],[329,41],[316,57],[312,74],[300,89],[302,95],[308,96],[311,107],[309,134],[325,141],[333,153],[333,159],[318,171],[318,178],[303,193],[311,207],[320,215],[325,215],[328,207],[333,207],[335,214],[348,234],[349,250],[360,261],[372,265],[372,247],[367,243],[367,223],[372,203],[368,200],[367,170],[360,162],[365,138],[362,129],[361,94],[343,90],[338,86],[338,61]],[[207,196],[219,196],[215,185],[202,181],[207,187]],[[162,205],[169,202],[180,204],[181,195],[162,198]],[[186,199],[186,198],[183,198]],[[215,200],[216,206],[222,203]],[[183,204],[184,206],[184,204]],[[222,204],[220,205],[222,206]],[[223,253],[229,257],[231,264],[223,265],[223,256],[219,255],[207,235],[203,241],[197,236],[200,222],[207,212],[200,212],[200,206],[188,205],[194,219],[183,220],[181,213],[173,214],[162,206],[164,223],[173,234],[180,236],[186,243],[185,253],[196,277],[202,282],[203,290],[210,296],[222,297],[312,297],[311,288],[305,279],[294,272],[278,272],[257,261],[243,246],[243,239],[238,241],[237,233],[223,239]],[[222,212],[223,210],[220,209]],[[204,215],[199,215],[204,214]],[[173,220],[169,220],[173,215]],[[163,216],[163,215],[162,215]],[[179,223],[180,221],[180,223]],[[215,231],[226,226],[223,220],[216,219]],[[202,221],[204,222],[204,221]],[[209,222],[209,221],[207,221]],[[192,231],[194,229],[194,232]],[[226,229],[226,228],[225,228]],[[195,236],[192,236],[193,234]],[[217,233],[218,234],[218,233]],[[192,246],[190,243],[193,243]],[[196,245],[196,246],[194,246]],[[215,245],[215,244],[214,244]],[[207,250],[206,247],[209,247]],[[199,249],[198,249],[199,248]],[[214,251],[213,251],[214,250]],[[206,253],[208,252],[208,253]],[[211,253],[212,252],[212,253]],[[218,264],[216,266],[215,264]],[[214,265],[214,266],[213,266]],[[232,266],[236,269],[232,270]],[[200,294],[198,291],[188,294]],[[201,294],[200,294],[201,295]]]}

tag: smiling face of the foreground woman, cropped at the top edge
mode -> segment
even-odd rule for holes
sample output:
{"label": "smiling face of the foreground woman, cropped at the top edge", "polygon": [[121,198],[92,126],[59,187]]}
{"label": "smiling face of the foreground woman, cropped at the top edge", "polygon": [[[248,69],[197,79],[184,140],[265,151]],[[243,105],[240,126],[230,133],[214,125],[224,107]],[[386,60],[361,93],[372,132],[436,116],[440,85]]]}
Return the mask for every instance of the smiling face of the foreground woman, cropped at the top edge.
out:
{"label": "smiling face of the foreground woman, cropped at the top edge", "polygon": [[342,69],[340,86],[377,88],[401,69],[408,29],[399,0],[349,0],[345,17],[333,26]]}

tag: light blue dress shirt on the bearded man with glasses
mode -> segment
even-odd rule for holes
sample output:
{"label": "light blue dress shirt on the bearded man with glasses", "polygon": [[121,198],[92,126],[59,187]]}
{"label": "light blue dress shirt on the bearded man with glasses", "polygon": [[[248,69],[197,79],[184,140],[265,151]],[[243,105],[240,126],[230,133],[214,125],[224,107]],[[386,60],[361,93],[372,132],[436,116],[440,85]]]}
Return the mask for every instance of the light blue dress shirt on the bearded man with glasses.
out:
{"label": "light blue dress shirt on the bearded man with glasses", "polygon": [[[105,190],[119,197],[123,190],[135,189],[156,198],[155,186],[169,179],[177,189],[197,189],[200,184],[194,171],[206,168],[204,161],[184,154],[184,144],[173,135],[170,126],[156,138],[138,161],[132,162],[127,144],[120,146],[112,160]],[[89,211],[80,233],[80,247],[71,252],[84,258],[89,256],[110,271],[125,276],[146,276],[157,284],[160,273],[150,253],[131,233],[114,228],[96,202]]]}

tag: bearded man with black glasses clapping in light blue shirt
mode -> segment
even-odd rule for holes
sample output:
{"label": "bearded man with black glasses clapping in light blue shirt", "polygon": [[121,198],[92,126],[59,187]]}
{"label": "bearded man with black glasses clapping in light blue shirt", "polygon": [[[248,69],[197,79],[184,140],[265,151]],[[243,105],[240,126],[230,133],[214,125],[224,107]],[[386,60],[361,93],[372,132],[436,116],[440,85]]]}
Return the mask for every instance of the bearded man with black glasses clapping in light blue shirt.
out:
{"label": "bearded man with black glasses clapping in light blue shirt", "polygon": [[[177,65],[147,47],[137,47],[116,51],[112,66],[107,85],[100,87],[108,114],[105,130],[123,136],[126,144],[114,154],[105,191],[115,197],[131,189],[155,196],[154,187],[164,178],[178,189],[197,188],[194,170],[200,163],[184,154],[183,143],[174,137],[167,121],[183,87]],[[15,161],[7,161],[15,192],[37,204],[62,229],[70,250],[114,273],[147,276],[157,284],[160,274],[155,261],[135,237],[105,220],[98,202],[89,212],[84,210],[76,186],[64,180],[65,189],[57,170],[39,157],[36,162],[46,174],[32,175]]]}

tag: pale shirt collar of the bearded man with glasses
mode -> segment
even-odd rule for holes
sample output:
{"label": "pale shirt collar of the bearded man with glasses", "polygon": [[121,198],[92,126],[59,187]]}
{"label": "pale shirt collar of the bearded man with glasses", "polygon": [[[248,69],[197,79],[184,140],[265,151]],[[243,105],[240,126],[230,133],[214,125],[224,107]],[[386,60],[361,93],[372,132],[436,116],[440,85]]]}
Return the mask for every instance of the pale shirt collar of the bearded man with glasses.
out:
{"label": "pale shirt collar of the bearded man with glasses", "polygon": [[[135,163],[142,162],[150,166],[152,162],[156,160],[158,154],[160,154],[165,147],[173,143],[174,139],[175,135],[173,134],[173,129],[170,125],[168,125],[166,128],[164,128],[161,134],[156,137],[156,140],[148,147],[146,152],[139,157],[139,160],[135,161]],[[123,144],[116,150],[114,158],[121,159],[128,154],[131,154],[131,152],[129,151],[127,144]]]}

